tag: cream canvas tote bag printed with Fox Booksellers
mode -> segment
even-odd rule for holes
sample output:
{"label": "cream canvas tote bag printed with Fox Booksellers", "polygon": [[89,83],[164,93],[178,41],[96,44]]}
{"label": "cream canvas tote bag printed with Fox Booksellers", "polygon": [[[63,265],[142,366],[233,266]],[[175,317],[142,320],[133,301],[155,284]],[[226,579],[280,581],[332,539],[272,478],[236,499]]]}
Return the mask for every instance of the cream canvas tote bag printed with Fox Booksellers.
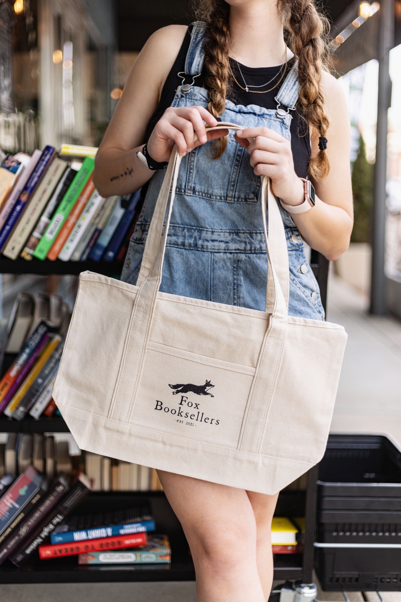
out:
{"label": "cream canvas tote bag printed with Fox Booksellers", "polygon": [[[210,129],[227,127],[240,129]],[[325,452],[347,334],[288,315],[284,225],[265,177],[266,311],[159,292],[179,166],[174,146],[137,284],[79,275],[53,397],[83,450],[274,494]]]}

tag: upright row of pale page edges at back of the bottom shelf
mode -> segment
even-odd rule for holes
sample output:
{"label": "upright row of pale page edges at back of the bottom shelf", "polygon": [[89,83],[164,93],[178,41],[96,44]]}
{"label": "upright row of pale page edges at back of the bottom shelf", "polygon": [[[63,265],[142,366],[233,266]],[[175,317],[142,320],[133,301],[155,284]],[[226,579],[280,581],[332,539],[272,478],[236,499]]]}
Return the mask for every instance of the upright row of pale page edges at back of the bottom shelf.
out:
{"label": "upright row of pale page edges at back of the bottom shelf", "polygon": [[90,452],[70,455],[69,442],[50,433],[8,433],[0,444],[0,477],[20,474],[29,464],[50,480],[84,472],[93,491],[163,491],[155,468]]}

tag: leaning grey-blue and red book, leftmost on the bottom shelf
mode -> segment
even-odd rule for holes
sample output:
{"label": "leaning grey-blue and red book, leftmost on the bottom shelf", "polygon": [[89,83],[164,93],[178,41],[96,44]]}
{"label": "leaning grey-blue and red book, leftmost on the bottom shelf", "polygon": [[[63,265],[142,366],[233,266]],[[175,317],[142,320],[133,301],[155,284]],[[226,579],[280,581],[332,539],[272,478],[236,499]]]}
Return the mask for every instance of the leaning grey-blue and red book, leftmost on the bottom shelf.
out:
{"label": "leaning grey-blue and red book, leftmost on the bottom shelf", "polygon": [[40,488],[43,475],[29,465],[0,499],[0,535]]}

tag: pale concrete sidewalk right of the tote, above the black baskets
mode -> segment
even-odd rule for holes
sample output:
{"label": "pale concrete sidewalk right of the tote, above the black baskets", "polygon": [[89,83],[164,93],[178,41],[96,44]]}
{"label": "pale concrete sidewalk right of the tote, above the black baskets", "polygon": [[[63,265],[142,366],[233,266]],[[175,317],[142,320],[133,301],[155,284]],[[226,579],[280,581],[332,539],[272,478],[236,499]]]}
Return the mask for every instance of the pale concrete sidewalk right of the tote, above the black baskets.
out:
{"label": "pale concrete sidewalk right of the tote, above the black baskets", "polygon": [[390,435],[401,447],[401,321],[368,310],[331,270],[326,320],[348,334],[331,432]]}

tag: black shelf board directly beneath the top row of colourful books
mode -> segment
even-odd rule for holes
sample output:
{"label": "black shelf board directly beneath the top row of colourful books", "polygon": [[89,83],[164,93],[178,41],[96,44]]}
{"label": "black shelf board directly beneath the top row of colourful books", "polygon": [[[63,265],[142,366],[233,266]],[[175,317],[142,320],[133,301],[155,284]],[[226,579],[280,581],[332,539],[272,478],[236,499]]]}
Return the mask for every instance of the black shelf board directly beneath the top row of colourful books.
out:
{"label": "black shelf board directly beneath the top row of colourful books", "polygon": [[88,259],[87,261],[61,261],[56,259],[50,261],[50,259],[8,259],[7,257],[0,257],[0,273],[2,274],[37,274],[37,275],[51,275],[51,274],[75,274],[78,275],[80,272],[90,270],[91,272],[97,272],[104,276],[120,276],[121,270],[123,269],[123,261],[93,261]]}

